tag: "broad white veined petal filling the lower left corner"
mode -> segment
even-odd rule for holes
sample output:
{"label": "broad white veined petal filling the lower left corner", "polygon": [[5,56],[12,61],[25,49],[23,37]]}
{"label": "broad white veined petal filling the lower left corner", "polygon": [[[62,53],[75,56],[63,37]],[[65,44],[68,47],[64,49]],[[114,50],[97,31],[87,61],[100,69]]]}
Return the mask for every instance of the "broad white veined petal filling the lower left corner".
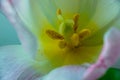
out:
{"label": "broad white veined petal filling the lower left corner", "polygon": [[0,47],[0,80],[35,80],[40,74],[20,45]]}

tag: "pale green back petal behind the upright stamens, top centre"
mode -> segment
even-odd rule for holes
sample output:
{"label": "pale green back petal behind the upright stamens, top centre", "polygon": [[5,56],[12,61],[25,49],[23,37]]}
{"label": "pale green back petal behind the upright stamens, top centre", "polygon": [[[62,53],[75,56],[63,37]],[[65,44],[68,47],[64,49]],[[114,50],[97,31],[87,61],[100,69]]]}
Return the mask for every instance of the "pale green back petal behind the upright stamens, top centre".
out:
{"label": "pale green back petal behind the upright stamens, top centre", "polygon": [[76,13],[80,14],[79,23],[87,25],[94,15],[97,0],[54,0],[57,7],[62,10],[65,18],[72,18]]}

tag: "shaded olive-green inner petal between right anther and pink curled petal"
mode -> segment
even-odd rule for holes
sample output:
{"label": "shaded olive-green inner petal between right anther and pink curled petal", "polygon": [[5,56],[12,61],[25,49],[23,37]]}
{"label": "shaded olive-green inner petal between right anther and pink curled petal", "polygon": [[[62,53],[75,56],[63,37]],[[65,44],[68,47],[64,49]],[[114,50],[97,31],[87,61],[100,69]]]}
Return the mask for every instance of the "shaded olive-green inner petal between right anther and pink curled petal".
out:
{"label": "shaded olive-green inner petal between right anther and pink curled petal", "polygon": [[103,44],[103,36],[109,30],[109,28],[112,27],[118,20],[119,20],[119,17],[116,17],[115,19],[111,21],[111,23],[97,30],[94,34],[92,34],[92,36],[88,37],[86,40],[82,42],[83,45],[96,46],[96,45]]}

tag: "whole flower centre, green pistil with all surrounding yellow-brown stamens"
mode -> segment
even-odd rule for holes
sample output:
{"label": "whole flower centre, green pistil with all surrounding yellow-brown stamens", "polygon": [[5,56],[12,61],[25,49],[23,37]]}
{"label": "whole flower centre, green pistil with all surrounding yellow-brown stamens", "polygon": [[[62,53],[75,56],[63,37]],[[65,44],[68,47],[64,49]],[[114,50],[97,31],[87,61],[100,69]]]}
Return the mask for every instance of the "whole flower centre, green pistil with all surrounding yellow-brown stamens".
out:
{"label": "whole flower centre, green pistil with all surrounding yellow-brown stamens", "polygon": [[75,14],[73,19],[64,19],[60,9],[57,10],[57,17],[60,21],[59,32],[46,30],[46,34],[54,39],[59,40],[58,46],[63,48],[78,48],[82,41],[90,36],[90,29],[78,30],[79,14]]}

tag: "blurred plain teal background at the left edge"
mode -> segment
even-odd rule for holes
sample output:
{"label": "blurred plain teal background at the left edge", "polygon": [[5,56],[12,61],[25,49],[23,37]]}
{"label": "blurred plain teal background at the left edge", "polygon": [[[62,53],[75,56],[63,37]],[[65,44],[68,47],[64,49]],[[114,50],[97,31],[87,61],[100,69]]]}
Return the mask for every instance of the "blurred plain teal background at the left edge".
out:
{"label": "blurred plain teal background at the left edge", "polygon": [[0,13],[0,46],[18,44],[19,39],[7,18]]}

